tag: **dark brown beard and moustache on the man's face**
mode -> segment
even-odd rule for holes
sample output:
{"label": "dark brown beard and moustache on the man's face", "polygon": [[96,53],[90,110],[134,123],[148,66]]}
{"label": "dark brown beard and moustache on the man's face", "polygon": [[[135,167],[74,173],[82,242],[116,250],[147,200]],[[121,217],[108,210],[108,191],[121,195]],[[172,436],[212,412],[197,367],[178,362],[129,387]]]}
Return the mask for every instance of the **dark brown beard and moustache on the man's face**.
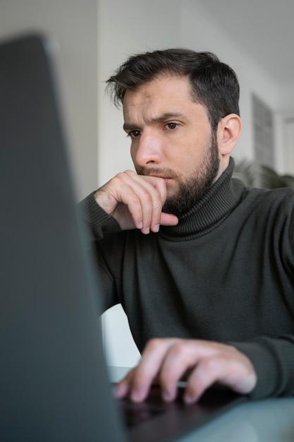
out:
{"label": "dark brown beard and moustache on the man's face", "polygon": [[[162,211],[180,217],[192,209],[214,183],[214,179],[219,172],[219,163],[219,148],[216,142],[216,136],[212,134],[210,145],[207,148],[207,155],[202,159],[200,165],[195,167],[194,172],[190,174],[190,177],[185,179],[185,181],[170,170],[148,169],[148,174],[163,173],[178,181],[176,193],[167,196]],[[141,169],[139,174],[147,174],[147,171]]]}

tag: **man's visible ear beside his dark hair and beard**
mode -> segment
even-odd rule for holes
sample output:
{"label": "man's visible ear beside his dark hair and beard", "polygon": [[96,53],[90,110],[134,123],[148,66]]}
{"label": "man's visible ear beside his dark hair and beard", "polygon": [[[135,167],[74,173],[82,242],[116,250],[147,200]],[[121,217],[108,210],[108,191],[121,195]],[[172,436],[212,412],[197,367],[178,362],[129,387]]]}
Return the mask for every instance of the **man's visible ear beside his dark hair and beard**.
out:
{"label": "man's visible ear beside his dark hair and beard", "polygon": [[237,114],[228,114],[219,121],[217,142],[221,155],[230,155],[242,131],[242,121]]}

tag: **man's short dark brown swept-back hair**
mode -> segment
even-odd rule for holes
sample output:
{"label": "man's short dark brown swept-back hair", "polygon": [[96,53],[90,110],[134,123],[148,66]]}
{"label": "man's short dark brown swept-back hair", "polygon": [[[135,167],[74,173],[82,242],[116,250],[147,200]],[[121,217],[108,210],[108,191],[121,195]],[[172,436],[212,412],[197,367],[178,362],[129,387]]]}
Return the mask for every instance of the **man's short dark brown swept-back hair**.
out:
{"label": "man's short dark brown swept-back hair", "polygon": [[164,73],[190,80],[192,97],[207,108],[213,131],[226,115],[240,114],[238,78],[211,52],[164,49],[130,56],[106,81],[106,90],[114,104],[123,104],[126,90],[136,90]]}

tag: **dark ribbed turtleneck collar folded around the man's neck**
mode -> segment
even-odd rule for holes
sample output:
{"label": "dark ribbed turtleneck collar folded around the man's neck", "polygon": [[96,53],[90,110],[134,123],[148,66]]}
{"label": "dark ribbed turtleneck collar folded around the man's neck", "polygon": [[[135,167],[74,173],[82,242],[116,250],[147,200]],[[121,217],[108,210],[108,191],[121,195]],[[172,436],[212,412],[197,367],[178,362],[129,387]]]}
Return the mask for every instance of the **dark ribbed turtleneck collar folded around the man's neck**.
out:
{"label": "dark ribbed turtleneck collar folded around the man's neck", "polygon": [[223,220],[238,204],[245,191],[245,184],[232,179],[233,158],[221,177],[188,213],[179,218],[176,226],[161,226],[160,235],[169,241],[187,241],[202,237]]}

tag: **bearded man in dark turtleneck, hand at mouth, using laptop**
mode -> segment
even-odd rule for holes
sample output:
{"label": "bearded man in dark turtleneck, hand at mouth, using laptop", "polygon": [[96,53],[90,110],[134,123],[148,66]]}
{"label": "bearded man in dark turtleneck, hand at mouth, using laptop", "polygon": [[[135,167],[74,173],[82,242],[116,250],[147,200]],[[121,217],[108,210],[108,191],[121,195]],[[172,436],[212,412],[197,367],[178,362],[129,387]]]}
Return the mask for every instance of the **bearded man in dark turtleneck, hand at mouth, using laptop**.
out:
{"label": "bearded man in dark turtleneck, hand at mouth, using laptop", "polygon": [[[232,179],[242,129],[235,73],[210,53],[130,57],[109,80],[137,173],[80,203],[105,310],[121,303],[142,352],[116,395],[152,383],[185,402],[213,383],[294,393],[294,191]],[[99,294],[100,296],[100,294]]]}

